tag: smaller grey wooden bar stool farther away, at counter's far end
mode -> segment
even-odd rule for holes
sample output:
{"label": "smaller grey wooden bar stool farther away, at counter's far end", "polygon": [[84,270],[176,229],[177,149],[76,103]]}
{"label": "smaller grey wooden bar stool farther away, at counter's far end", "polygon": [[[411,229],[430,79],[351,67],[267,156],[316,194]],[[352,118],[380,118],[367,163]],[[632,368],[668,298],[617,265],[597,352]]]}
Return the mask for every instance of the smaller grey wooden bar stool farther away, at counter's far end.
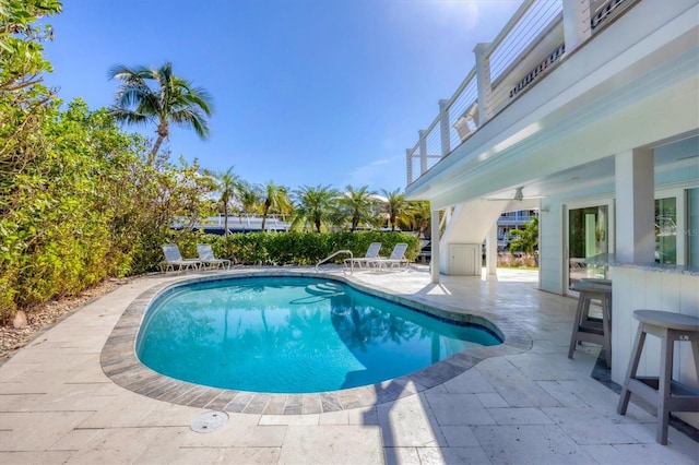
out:
{"label": "smaller grey wooden bar stool farther away, at counter's far end", "polygon": [[[604,348],[607,367],[612,366],[612,286],[580,282],[571,286],[578,291],[578,309],[572,322],[568,358],[572,358],[578,342],[600,344]],[[602,319],[590,318],[590,301],[600,300]]]}

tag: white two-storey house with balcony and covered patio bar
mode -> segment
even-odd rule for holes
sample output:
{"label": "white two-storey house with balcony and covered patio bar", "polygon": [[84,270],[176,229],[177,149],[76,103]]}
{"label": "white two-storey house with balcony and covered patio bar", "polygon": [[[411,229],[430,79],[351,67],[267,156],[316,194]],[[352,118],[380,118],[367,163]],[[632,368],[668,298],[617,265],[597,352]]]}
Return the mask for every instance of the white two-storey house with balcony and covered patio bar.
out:
{"label": "white two-storey house with balcony and covered patio bar", "polygon": [[[495,273],[497,218],[538,208],[543,291],[613,281],[621,383],[633,310],[699,315],[698,0],[525,0],[474,53],[407,150],[406,196],[443,222],[433,222],[433,281],[479,274],[484,240]],[[649,374],[655,342],[641,363]],[[685,346],[675,378],[697,386]]]}

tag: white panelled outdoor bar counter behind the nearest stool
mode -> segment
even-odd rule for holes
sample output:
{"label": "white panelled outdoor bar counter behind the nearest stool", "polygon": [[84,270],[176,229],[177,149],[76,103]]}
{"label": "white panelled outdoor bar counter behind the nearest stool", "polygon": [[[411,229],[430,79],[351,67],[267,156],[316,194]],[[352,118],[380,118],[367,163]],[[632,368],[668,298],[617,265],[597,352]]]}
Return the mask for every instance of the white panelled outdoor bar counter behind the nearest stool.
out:
{"label": "white panelled outdoor bar counter behind the nearest stool", "polygon": [[[609,258],[606,265],[614,296],[612,380],[623,384],[639,324],[633,318],[633,310],[663,310],[699,317],[699,269],[657,263],[618,263],[613,258]],[[638,374],[656,377],[660,359],[660,339],[647,337]],[[673,379],[690,386],[699,386],[694,363],[689,343],[675,343]],[[699,414],[673,415],[699,428]]]}

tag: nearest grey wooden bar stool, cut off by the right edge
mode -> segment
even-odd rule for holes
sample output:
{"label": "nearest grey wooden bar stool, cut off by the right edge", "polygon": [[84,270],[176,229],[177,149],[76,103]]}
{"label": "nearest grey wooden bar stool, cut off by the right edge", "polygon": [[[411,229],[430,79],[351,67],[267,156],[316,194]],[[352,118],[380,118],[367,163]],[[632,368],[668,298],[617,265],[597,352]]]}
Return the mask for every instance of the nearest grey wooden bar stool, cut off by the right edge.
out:
{"label": "nearest grey wooden bar stool, cut off by the right edge", "polygon": [[[687,314],[659,310],[636,310],[640,323],[629,360],[629,368],[621,389],[616,412],[626,415],[631,393],[651,405],[657,406],[655,440],[667,444],[667,425],[671,412],[699,412],[699,390],[672,379],[675,341],[691,343],[695,370],[699,379],[699,319]],[[645,334],[661,338],[660,377],[637,377],[638,365],[645,342]]]}

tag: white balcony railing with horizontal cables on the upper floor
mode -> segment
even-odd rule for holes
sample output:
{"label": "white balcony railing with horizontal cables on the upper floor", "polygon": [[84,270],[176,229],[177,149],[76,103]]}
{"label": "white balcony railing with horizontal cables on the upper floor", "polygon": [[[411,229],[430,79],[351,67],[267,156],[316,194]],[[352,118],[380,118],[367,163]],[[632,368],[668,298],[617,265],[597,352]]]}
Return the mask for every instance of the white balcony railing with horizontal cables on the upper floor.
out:
{"label": "white balcony railing with horizontal cables on the upper floor", "polygon": [[439,100],[439,114],[426,130],[418,131],[417,143],[406,150],[407,183],[469,140],[638,1],[524,0],[491,43],[476,46],[475,67],[450,98]]}

